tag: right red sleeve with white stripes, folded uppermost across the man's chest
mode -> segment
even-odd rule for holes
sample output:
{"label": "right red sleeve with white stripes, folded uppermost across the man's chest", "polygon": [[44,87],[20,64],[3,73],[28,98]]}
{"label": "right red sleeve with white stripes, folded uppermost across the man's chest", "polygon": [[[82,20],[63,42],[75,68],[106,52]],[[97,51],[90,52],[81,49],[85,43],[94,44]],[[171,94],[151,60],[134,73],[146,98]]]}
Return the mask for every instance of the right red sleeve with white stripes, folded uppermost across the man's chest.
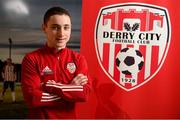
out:
{"label": "right red sleeve with white stripes, folded uppermost across the man's chest", "polygon": [[88,76],[88,83],[84,86],[56,83],[50,80],[43,87],[48,93],[56,94],[67,101],[87,101],[91,91],[91,78],[88,74],[88,66],[84,57],[81,57],[77,64],[77,74]]}

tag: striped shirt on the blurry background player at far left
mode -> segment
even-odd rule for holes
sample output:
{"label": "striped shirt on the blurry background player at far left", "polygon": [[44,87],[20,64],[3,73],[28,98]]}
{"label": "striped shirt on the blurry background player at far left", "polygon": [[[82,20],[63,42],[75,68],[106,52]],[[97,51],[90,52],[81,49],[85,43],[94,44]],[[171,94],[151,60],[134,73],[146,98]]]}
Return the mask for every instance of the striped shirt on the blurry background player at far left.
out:
{"label": "striped shirt on the blurry background player at far left", "polygon": [[2,72],[2,77],[4,81],[15,81],[16,80],[16,72],[14,65],[6,65]]}

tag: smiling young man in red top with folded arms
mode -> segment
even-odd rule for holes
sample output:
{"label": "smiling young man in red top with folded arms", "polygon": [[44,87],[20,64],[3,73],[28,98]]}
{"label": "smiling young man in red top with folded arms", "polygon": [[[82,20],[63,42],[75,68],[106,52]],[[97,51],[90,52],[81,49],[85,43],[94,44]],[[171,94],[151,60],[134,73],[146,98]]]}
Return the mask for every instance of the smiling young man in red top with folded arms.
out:
{"label": "smiling young man in red top with folded arms", "polygon": [[22,90],[30,118],[76,118],[76,102],[86,101],[91,80],[85,58],[66,47],[71,35],[69,12],[50,8],[42,29],[45,46],[27,54],[22,62]]}

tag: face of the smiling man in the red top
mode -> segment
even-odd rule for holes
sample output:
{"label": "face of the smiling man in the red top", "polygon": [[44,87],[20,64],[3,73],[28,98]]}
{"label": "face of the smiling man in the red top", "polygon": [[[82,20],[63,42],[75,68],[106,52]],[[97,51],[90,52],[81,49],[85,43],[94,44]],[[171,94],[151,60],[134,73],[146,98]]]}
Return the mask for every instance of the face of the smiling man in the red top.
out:
{"label": "face of the smiling man in the red top", "polygon": [[61,50],[66,47],[71,35],[71,20],[67,15],[53,15],[43,25],[49,47]]}

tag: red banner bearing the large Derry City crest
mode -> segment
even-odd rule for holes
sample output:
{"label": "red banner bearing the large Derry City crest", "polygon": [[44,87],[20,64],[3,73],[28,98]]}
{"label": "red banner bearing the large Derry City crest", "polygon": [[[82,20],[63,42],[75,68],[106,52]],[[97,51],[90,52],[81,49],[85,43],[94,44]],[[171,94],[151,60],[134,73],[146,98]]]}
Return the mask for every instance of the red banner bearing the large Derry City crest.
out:
{"label": "red banner bearing the large Derry City crest", "polygon": [[180,118],[178,11],[170,0],[83,0],[93,92],[79,118]]}

